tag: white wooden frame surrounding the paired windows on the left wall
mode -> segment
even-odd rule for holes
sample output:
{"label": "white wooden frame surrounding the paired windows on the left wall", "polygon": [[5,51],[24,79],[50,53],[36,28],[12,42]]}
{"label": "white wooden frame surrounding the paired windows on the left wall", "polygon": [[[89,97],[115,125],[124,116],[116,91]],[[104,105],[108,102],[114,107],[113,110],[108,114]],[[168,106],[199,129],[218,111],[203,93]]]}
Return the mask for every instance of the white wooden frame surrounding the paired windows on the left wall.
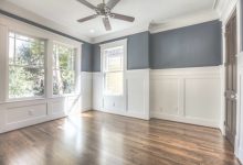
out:
{"label": "white wooden frame surrounding the paired windows on the left wall", "polygon": [[[66,98],[68,96],[53,96],[52,89],[52,50],[53,42],[60,42],[62,44],[72,45],[76,50],[76,91],[72,96],[81,95],[81,53],[82,53],[82,42],[74,41],[72,38],[67,38],[65,36],[54,34],[52,32],[34,28],[32,25],[28,25],[25,23],[10,20],[8,18],[0,15],[0,85],[3,89],[1,89],[0,94],[0,103],[4,102],[15,102],[15,101],[32,101],[32,100],[46,100],[46,99],[55,99],[55,98]],[[9,32],[14,32],[18,34],[23,34],[34,38],[45,40],[46,50],[45,50],[45,94],[43,97],[29,97],[29,98],[13,98],[9,99]]]}

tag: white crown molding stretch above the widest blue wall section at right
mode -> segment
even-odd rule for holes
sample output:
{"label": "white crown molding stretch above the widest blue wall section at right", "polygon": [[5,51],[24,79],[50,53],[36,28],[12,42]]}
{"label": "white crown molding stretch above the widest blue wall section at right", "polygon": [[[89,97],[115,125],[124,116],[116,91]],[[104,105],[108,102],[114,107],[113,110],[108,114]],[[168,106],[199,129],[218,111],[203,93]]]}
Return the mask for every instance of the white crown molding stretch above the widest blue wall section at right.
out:
{"label": "white crown molding stretch above the widest blue wall section at right", "polygon": [[209,22],[213,20],[219,20],[220,16],[214,10],[191,13],[176,19],[170,19],[163,23],[150,24],[150,33],[159,33],[163,31],[169,31],[173,29],[184,28],[189,25],[194,25],[203,22]]}

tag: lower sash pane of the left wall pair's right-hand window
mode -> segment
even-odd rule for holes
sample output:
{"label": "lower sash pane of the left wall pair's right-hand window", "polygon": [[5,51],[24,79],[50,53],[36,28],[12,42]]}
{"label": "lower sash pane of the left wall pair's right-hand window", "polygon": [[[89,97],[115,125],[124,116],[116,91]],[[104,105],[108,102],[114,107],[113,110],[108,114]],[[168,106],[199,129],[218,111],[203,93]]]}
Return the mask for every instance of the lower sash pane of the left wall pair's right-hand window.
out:
{"label": "lower sash pane of the left wall pair's right-hand window", "polygon": [[75,72],[53,70],[53,95],[73,94],[75,91]]}

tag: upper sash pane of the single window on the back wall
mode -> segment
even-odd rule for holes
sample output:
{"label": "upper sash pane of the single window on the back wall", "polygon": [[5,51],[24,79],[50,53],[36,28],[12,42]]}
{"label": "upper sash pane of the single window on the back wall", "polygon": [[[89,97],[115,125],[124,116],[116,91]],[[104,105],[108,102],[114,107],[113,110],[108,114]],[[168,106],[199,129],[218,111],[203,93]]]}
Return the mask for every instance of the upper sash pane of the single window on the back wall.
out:
{"label": "upper sash pane of the single window on the back wall", "polygon": [[105,50],[105,70],[123,70],[124,48],[123,46]]}

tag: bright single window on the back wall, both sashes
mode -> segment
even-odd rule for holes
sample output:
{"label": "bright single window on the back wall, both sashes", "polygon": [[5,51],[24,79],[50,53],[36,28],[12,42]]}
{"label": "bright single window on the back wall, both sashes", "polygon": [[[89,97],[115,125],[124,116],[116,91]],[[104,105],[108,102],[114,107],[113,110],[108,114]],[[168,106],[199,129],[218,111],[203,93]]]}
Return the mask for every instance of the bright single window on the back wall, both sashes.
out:
{"label": "bright single window on the back wall, both sashes", "polygon": [[122,96],[124,91],[124,46],[104,50],[105,95]]}

